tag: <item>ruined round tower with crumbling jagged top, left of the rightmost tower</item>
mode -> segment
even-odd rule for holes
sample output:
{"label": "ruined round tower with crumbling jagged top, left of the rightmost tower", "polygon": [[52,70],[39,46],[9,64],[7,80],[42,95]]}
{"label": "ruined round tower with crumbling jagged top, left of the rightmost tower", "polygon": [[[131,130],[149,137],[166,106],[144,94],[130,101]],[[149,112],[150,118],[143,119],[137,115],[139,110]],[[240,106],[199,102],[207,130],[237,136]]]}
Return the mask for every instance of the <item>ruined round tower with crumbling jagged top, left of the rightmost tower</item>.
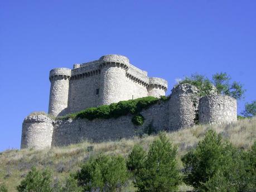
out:
{"label": "ruined round tower with crumbling jagged top, left of the rightmost tower", "polygon": [[190,84],[173,88],[169,100],[169,129],[194,126],[198,119],[198,89]]}

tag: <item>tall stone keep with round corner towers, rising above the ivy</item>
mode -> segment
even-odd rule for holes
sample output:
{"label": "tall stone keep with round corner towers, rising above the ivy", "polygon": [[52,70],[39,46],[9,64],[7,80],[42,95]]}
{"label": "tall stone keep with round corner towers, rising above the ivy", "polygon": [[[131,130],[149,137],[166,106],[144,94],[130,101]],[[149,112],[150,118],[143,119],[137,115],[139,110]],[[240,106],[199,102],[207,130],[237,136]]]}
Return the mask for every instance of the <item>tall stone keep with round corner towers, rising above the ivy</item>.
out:
{"label": "tall stone keep with round corner towers, rising above the ivy", "polygon": [[148,77],[127,57],[106,55],[99,60],[50,71],[49,114],[65,115],[88,107],[139,97],[165,95],[167,81]]}

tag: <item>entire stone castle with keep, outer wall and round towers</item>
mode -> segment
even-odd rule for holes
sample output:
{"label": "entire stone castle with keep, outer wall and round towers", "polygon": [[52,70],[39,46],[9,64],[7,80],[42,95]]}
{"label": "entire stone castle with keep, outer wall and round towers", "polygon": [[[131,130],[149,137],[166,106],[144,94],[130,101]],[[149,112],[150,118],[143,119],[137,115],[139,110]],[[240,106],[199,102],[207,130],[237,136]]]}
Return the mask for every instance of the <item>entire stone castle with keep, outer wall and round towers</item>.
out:
{"label": "entire stone castle with keep, outer wall and round towers", "polygon": [[84,140],[105,141],[129,138],[152,126],[156,131],[173,131],[200,123],[236,121],[236,100],[212,94],[197,96],[197,88],[181,84],[172,89],[168,101],[144,109],[144,123],[133,125],[132,115],[117,119],[54,119],[88,107],[109,105],[140,97],[165,96],[167,81],[148,77],[146,71],[129,63],[127,57],[106,55],[99,60],[75,64],[73,69],[50,71],[49,115],[32,113],[22,124],[21,148],[43,149]]}

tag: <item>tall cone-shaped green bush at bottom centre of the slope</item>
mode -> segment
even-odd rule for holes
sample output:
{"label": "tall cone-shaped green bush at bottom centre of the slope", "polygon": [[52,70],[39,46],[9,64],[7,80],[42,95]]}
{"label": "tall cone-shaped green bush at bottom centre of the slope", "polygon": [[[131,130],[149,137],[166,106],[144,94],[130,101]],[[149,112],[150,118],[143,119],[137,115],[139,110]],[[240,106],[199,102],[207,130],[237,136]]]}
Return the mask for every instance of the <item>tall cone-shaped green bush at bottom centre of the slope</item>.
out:
{"label": "tall cone-shaped green bush at bottom centre of the slope", "polygon": [[143,168],[135,175],[138,191],[176,191],[181,181],[176,154],[176,147],[161,133],[150,145]]}

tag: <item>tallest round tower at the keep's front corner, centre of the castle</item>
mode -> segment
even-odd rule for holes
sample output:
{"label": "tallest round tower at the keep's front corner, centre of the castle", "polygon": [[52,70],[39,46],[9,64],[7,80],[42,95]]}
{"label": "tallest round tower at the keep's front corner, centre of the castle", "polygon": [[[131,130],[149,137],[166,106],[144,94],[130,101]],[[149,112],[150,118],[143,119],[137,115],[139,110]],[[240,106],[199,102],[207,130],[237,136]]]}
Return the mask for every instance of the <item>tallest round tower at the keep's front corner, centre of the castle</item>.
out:
{"label": "tallest round tower at the keep's front corner, centre of the castle", "polygon": [[128,70],[129,60],[121,55],[106,55],[100,57],[102,86],[100,88],[100,105],[109,105],[125,97],[125,73]]}

